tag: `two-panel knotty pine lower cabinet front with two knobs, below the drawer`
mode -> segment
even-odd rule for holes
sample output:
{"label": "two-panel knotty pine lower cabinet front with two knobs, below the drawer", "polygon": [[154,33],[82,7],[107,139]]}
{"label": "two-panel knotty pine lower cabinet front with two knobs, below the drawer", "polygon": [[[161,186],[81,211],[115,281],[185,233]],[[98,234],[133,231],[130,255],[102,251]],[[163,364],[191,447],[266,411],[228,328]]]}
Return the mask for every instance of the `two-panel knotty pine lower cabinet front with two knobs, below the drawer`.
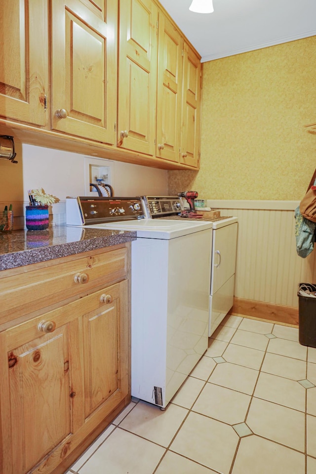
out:
{"label": "two-panel knotty pine lower cabinet front with two knobs, below the drawer", "polygon": [[57,472],[129,401],[128,313],[123,279],[0,332],[1,473]]}

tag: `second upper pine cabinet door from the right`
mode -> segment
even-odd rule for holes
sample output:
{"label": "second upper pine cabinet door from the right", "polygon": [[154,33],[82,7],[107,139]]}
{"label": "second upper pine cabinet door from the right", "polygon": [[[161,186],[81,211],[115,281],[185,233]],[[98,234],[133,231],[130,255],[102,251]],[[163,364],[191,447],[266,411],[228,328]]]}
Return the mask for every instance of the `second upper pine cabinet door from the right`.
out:
{"label": "second upper pine cabinet door from the right", "polygon": [[156,156],[179,161],[183,40],[159,13]]}

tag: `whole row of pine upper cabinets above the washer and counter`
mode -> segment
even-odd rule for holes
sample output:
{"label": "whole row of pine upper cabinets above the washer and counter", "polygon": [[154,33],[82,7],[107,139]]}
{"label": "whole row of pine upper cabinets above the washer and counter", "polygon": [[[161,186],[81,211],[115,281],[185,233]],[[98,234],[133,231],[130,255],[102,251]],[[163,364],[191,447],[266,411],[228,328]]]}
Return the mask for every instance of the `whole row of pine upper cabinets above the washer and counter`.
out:
{"label": "whole row of pine upper cabinets above the washer and counter", "polygon": [[200,60],[158,1],[3,0],[0,21],[0,121],[23,142],[198,168]]}

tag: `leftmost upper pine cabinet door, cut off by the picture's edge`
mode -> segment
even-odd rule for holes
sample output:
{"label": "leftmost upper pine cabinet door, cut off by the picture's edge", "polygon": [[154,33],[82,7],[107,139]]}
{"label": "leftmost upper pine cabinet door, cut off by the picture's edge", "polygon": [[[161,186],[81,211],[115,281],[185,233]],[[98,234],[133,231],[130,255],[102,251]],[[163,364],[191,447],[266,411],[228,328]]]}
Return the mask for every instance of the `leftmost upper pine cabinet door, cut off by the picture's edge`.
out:
{"label": "leftmost upper pine cabinet door, cut off by the picture's edge", "polygon": [[1,1],[0,116],[45,125],[47,2]]}

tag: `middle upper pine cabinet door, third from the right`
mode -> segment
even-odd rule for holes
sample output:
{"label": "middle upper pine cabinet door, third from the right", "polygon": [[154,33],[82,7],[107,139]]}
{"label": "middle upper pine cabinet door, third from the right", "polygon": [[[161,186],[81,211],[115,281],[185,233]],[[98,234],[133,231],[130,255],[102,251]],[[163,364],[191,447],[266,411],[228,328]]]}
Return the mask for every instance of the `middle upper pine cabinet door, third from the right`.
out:
{"label": "middle upper pine cabinet door, third from the right", "polygon": [[158,8],[125,0],[119,13],[118,146],[155,154]]}

